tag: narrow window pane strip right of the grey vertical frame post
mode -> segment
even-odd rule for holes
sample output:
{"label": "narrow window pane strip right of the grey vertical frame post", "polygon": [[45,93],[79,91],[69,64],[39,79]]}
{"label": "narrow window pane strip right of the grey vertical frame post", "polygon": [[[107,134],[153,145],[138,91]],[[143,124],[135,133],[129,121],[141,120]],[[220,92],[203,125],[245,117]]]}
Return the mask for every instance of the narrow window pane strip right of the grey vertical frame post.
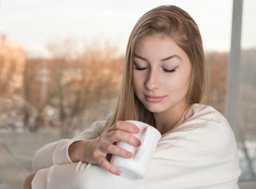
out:
{"label": "narrow window pane strip right of the grey vertical frame post", "polygon": [[245,0],[242,18],[237,140],[241,180],[256,180],[256,23],[255,1]]}

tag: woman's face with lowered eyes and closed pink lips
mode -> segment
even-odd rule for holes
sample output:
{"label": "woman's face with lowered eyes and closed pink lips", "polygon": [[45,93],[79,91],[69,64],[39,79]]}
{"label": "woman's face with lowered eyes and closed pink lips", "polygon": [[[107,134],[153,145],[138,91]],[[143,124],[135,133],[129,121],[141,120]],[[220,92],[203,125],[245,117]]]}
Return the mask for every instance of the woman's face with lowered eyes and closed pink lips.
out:
{"label": "woman's face with lowered eyes and closed pink lips", "polygon": [[133,84],[147,110],[165,112],[185,105],[189,78],[189,57],[170,37],[148,36],[138,43],[133,56]]}

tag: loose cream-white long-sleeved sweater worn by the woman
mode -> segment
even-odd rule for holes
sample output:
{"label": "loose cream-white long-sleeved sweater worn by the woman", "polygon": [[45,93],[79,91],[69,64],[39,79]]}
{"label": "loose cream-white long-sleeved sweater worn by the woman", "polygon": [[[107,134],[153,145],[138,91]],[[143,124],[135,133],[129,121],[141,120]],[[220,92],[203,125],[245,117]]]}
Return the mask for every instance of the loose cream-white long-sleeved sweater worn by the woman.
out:
{"label": "loose cream-white long-sleeved sweater worn by the woman", "polygon": [[94,122],[73,139],[41,147],[33,160],[33,168],[39,172],[32,188],[239,188],[241,168],[234,133],[212,106],[193,104],[183,113],[176,126],[162,135],[148,174],[140,180],[116,176],[99,165],[72,163],[68,157],[69,145],[97,138],[105,124]]}

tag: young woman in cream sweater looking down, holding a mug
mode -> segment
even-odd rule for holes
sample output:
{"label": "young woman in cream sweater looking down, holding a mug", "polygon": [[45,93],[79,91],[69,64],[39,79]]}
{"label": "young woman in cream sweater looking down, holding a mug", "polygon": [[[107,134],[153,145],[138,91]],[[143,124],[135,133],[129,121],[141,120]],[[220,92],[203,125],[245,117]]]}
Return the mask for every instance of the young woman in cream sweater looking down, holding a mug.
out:
{"label": "young woman in cream sweater looking down, holding a mug", "polygon": [[[44,145],[24,188],[239,188],[234,133],[212,106],[202,39],[193,18],[173,5],[146,12],[133,28],[116,109],[73,139]],[[131,158],[139,120],[161,132],[148,175],[120,177],[107,154]]]}

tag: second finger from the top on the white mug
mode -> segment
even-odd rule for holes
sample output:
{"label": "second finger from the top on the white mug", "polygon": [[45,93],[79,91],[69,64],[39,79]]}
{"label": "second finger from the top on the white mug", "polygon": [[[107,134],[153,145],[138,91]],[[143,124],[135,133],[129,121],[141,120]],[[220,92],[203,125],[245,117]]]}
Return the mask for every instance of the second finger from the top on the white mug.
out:
{"label": "second finger from the top on the white mug", "polygon": [[140,140],[137,137],[122,130],[113,131],[111,134],[108,134],[106,136],[106,139],[109,140],[110,143],[112,144],[116,141],[123,141],[125,143],[129,143],[130,145],[133,145],[136,147],[140,145]]}

